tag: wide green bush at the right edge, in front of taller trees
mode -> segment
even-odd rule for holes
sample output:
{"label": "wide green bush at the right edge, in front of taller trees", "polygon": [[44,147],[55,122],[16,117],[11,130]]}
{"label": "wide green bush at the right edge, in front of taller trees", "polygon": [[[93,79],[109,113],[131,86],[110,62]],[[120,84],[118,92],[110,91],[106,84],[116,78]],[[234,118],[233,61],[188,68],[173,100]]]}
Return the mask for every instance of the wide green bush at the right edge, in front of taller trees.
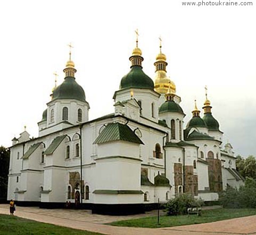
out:
{"label": "wide green bush at the right edge, in front of taller trees", "polygon": [[225,208],[255,208],[256,207],[256,181],[245,179],[245,185],[239,189],[227,187],[220,194],[220,201]]}

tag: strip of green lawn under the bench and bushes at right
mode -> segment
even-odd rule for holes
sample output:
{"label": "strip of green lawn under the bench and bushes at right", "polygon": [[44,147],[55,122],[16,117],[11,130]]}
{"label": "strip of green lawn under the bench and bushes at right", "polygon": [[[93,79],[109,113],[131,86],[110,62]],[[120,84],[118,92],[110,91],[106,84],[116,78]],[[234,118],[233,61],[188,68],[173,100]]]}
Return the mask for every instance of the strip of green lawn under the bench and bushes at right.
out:
{"label": "strip of green lawn under the bench and bushes at right", "polygon": [[160,224],[158,224],[158,217],[143,217],[140,219],[123,220],[109,223],[116,226],[125,227],[142,227],[142,228],[162,228],[174,227],[188,224],[209,223],[219,220],[227,220],[236,217],[244,217],[255,215],[256,210],[252,208],[243,209],[214,209],[202,211],[202,216],[197,215],[177,215],[177,216],[160,216]]}

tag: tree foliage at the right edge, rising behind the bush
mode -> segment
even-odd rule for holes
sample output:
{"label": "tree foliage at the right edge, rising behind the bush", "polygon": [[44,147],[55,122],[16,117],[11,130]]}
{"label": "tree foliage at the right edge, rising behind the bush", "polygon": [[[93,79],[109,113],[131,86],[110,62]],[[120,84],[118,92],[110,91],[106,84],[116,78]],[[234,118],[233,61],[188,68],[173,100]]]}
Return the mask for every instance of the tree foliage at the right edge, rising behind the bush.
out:
{"label": "tree foliage at the right edge, rising behind the bush", "polygon": [[236,159],[236,169],[240,174],[246,178],[256,179],[256,159],[254,156],[250,155],[248,158],[243,158],[238,155]]}

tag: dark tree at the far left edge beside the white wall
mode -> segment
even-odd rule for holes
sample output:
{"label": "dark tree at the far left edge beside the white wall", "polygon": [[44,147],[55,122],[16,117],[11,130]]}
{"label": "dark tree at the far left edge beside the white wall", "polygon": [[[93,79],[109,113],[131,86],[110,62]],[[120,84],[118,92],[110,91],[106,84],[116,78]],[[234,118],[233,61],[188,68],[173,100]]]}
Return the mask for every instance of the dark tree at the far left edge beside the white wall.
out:
{"label": "dark tree at the far left edge beside the white wall", "polygon": [[0,147],[0,198],[7,196],[8,172],[9,172],[10,151],[4,146]]}

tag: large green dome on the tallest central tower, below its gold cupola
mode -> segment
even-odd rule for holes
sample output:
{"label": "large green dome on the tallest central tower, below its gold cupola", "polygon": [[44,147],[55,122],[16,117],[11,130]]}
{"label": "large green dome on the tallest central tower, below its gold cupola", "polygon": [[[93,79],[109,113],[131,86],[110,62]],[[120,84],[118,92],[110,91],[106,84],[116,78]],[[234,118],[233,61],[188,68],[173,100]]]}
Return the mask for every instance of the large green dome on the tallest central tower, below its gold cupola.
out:
{"label": "large green dome on the tallest central tower, below its gold cupola", "polygon": [[154,90],[154,82],[147,76],[141,66],[132,66],[128,74],[122,77],[119,89],[142,88]]}

